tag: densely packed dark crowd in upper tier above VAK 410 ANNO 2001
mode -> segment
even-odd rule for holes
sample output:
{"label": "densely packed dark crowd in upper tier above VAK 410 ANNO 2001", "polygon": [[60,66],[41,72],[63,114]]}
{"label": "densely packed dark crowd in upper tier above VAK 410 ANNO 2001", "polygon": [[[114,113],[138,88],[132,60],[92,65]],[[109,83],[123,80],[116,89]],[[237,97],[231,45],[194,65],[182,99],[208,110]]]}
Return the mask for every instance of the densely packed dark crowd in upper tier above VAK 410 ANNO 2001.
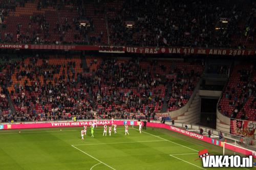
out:
{"label": "densely packed dark crowd in upper tier above VAK 410 ANNO 2001", "polygon": [[[247,37],[250,32],[248,37],[253,38],[253,6],[252,1],[239,0],[124,1],[117,16],[109,18],[110,38],[116,45],[232,47],[238,40],[232,41],[233,36]],[[227,18],[228,24],[217,31],[221,18]],[[241,29],[245,18],[248,22]],[[134,26],[126,27],[125,21],[133,21]]]}

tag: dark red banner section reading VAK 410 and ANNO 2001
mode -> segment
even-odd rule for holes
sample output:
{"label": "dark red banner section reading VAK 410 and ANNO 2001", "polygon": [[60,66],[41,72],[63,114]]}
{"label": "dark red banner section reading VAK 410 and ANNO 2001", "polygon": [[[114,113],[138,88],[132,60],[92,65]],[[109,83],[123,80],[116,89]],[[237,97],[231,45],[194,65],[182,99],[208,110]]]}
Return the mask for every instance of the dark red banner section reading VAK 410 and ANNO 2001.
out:
{"label": "dark red banner section reading VAK 410 and ANNO 2001", "polygon": [[227,56],[248,56],[256,54],[255,50],[232,50],[232,49],[208,49],[188,47],[129,47],[126,53],[142,54],[206,54],[206,55],[227,55]]}

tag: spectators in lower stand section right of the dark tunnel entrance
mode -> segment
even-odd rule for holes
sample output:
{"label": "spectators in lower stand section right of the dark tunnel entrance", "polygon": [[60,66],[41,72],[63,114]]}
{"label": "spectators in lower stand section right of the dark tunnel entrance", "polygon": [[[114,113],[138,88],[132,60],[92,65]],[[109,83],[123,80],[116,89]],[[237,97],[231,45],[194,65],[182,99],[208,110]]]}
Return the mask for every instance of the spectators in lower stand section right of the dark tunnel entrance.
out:
{"label": "spectators in lower stand section right of the dark tunnel entrance", "polygon": [[256,67],[239,65],[232,72],[229,83],[218,106],[231,118],[256,120]]}

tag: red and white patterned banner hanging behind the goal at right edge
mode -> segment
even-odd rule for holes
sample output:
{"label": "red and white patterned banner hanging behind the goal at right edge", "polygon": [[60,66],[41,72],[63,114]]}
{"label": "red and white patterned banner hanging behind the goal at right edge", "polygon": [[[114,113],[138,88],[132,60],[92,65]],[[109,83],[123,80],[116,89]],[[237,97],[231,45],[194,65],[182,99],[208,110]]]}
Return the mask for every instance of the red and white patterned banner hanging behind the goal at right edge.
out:
{"label": "red and white patterned banner hanging behind the goal at right edge", "polygon": [[253,137],[256,129],[256,122],[249,120],[230,119],[230,133],[242,137]]}

